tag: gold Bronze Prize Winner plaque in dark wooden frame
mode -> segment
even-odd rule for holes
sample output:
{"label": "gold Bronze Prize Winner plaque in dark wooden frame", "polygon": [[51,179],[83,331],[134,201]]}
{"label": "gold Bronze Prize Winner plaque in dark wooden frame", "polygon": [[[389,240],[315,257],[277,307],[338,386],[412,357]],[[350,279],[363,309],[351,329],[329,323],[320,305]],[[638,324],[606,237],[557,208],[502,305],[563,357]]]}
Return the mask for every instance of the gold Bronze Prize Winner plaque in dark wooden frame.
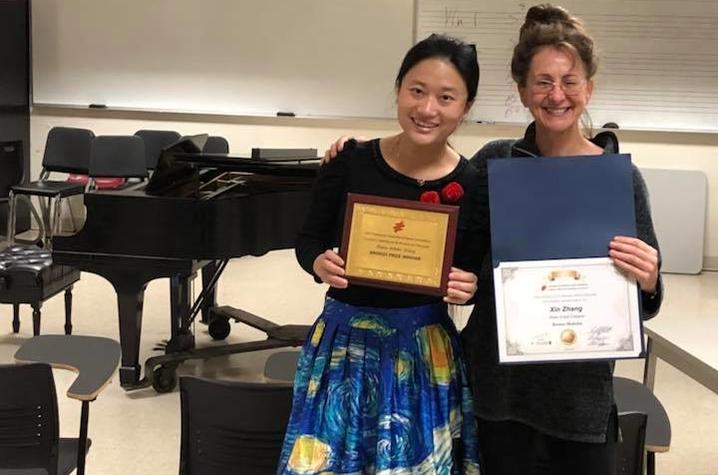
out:
{"label": "gold Bronze Prize Winner plaque in dark wooden frame", "polygon": [[444,295],[458,207],[349,193],[340,255],[350,283]]}

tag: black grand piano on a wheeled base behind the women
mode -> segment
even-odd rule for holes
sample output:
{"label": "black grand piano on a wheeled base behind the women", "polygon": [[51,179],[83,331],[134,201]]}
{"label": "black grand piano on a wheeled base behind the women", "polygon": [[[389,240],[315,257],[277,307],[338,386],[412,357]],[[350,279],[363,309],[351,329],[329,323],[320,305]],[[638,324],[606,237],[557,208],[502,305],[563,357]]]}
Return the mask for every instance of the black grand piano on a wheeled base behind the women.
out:
{"label": "black grand piano on a wheeled base behind the women", "polygon": [[[294,246],[309,206],[318,163],[202,154],[201,136],[165,150],[150,181],[84,196],[87,220],[75,235],[56,236],[53,260],[107,279],[117,292],[126,389],[152,385],[171,391],[187,359],[300,345],[308,328],[279,326],[231,307],[217,307],[214,286],[229,259]],[[201,271],[203,290],[192,302],[190,283]],[[145,362],[140,379],[142,304],[147,284],[170,279],[170,338],[165,354]],[[196,348],[191,323],[200,313],[214,338],[229,320],[267,333],[266,340]]]}

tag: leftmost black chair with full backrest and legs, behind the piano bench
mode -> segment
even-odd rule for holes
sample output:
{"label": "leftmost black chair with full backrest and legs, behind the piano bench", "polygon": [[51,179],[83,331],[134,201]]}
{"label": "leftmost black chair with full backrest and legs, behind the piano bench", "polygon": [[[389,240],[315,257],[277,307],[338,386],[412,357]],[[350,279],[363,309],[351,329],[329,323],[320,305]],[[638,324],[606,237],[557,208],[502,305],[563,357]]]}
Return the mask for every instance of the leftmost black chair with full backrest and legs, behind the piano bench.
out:
{"label": "leftmost black chair with full backrest and legs, behind the piano bench", "polygon": [[53,127],[47,135],[42,172],[38,181],[13,186],[9,196],[8,241],[15,239],[16,200],[18,196],[36,196],[40,200],[41,239],[49,247],[52,235],[60,224],[60,206],[68,196],[85,191],[81,183],[50,180],[52,172],[86,175],[90,162],[90,145],[95,134],[91,130]]}

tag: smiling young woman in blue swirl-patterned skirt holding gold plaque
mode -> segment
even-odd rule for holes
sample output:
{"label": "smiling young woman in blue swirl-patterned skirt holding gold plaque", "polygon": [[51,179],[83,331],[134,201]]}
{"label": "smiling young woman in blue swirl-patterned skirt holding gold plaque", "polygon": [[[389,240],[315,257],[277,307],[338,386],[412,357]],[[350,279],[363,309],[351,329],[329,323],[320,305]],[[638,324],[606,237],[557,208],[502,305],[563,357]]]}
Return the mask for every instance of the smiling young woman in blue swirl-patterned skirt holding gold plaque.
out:
{"label": "smiling young woman in blue swirl-patterned skirt holding gold plaque", "polygon": [[[472,271],[487,252],[485,182],[447,142],[478,79],[473,46],[438,35],[417,43],[396,77],[401,132],[347,144],[322,167],[296,254],[330,288],[299,360],[279,473],[478,473],[469,383],[447,314],[447,303],[473,296]],[[348,192],[460,207],[443,299],[348,284],[333,250]]]}

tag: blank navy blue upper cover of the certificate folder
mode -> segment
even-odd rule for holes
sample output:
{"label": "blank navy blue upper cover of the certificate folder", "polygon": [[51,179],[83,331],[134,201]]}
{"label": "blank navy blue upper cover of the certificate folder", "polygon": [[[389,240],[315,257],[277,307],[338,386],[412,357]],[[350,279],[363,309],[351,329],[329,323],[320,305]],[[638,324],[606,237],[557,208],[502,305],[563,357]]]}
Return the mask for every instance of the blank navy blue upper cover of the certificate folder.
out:
{"label": "blank navy blue upper cover of the certificate folder", "polygon": [[630,155],[491,159],[488,171],[494,267],[607,257],[614,236],[636,235]]}

